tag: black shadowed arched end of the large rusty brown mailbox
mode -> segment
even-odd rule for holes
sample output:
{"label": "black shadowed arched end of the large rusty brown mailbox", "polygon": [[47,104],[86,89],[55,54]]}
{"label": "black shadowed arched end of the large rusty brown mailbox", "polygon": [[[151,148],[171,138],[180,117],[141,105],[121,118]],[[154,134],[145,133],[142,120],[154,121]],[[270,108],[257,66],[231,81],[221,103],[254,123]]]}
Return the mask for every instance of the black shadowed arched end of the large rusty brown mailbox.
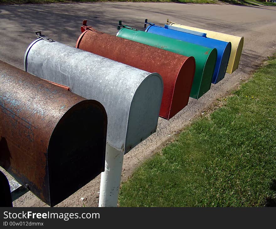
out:
{"label": "black shadowed arched end of the large rusty brown mailbox", "polygon": [[107,114],[98,101],[80,101],[61,117],[47,152],[50,206],[104,171],[106,133]]}

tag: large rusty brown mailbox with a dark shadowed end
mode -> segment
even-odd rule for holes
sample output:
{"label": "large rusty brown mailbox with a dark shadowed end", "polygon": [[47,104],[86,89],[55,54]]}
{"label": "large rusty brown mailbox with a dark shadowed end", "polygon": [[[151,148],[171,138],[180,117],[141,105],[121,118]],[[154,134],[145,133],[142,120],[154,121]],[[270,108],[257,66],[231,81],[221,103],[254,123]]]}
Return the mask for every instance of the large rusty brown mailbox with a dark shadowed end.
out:
{"label": "large rusty brown mailbox with a dark shadowed end", "polygon": [[50,206],[104,171],[107,114],[0,61],[0,166]]}

